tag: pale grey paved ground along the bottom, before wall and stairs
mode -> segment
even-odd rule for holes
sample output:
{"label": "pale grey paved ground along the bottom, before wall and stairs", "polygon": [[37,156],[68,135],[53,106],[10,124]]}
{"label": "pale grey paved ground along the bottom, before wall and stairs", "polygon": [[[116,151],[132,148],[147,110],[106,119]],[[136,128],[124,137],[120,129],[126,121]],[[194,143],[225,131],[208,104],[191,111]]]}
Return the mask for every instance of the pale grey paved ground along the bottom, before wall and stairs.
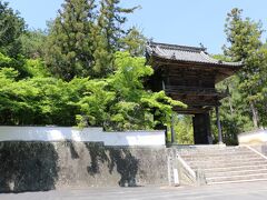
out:
{"label": "pale grey paved ground along the bottom, before wall and stairs", "polygon": [[137,187],[71,189],[47,192],[2,193],[0,200],[266,200],[267,182],[205,187]]}

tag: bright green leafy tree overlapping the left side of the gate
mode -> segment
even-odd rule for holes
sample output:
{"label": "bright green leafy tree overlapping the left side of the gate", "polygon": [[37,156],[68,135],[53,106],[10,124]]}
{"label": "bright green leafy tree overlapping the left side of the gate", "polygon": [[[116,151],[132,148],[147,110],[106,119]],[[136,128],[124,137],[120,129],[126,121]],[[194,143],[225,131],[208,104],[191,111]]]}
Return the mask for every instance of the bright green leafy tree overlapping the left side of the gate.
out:
{"label": "bright green leafy tree overlapping the left side of the gate", "polygon": [[115,74],[105,80],[89,81],[87,92],[90,96],[85,96],[79,102],[82,116],[78,119],[81,124],[113,130],[151,129],[157,123],[170,121],[174,106],[185,107],[162,91],[154,93],[144,89],[142,79],[152,74],[144,58],[117,52],[115,66]]}

